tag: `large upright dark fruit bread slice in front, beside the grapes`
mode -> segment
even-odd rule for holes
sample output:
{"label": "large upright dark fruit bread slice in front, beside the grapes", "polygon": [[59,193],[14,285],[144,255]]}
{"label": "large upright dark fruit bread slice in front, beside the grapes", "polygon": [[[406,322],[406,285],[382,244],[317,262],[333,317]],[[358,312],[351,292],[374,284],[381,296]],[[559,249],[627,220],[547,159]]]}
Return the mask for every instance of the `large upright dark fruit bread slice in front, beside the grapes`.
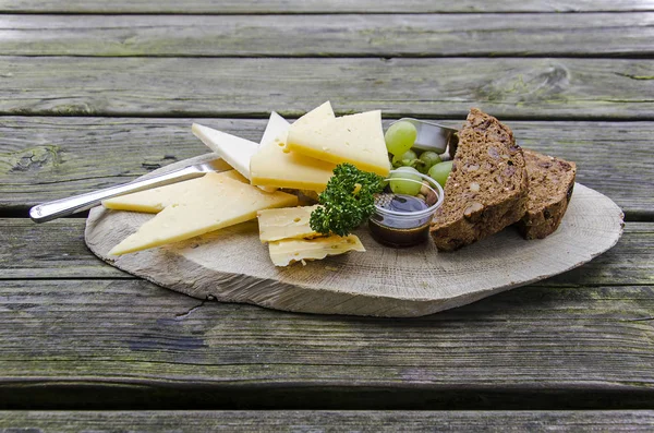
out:
{"label": "large upright dark fruit bread slice in front, beside the grapes", "polygon": [[528,176],[513,133],[475,108],[459,132],[445,201],[431,232],[439,251],[453,251],[517,222],[526,212]]}

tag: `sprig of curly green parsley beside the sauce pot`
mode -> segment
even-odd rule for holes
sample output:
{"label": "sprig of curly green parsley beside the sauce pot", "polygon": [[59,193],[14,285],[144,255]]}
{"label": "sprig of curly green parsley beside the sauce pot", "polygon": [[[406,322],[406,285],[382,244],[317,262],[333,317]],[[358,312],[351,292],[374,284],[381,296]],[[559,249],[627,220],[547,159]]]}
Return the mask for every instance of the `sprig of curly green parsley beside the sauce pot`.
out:
{"label": "sprig of curly green parsley beside the sauce pot", "polygon": [[348,236],[375,211],[375,193],[384,189],[384,178],[340,164],[319,195],[320,207],[312,212],[312,230],[322,234]]}

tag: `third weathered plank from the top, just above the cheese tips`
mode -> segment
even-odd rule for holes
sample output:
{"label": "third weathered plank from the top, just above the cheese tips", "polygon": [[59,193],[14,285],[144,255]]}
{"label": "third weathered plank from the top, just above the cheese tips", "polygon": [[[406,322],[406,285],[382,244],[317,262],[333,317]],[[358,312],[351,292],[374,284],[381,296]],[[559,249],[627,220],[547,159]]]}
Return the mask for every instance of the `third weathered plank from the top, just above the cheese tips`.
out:
{"label": "third weathered plank from the top, just above the cheese tips", "polygon": [[[653,60],[0,58],[0,115],[649,120]],[[164,73],[165,71],[165,73]]]}

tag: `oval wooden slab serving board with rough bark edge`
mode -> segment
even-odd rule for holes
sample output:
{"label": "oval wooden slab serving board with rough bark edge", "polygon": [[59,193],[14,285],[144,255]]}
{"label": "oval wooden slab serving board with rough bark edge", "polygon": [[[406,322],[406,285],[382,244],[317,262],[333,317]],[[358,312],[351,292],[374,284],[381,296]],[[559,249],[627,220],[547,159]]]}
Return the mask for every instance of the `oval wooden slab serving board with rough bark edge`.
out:
{"label": "oval wooden slab serving board with rough bark edge", "polygon": [[[148,176],[215,158],[204,155]],[[356,233],[367,252],[276,267],[261,243],[256,221],[187,241],[109,257],[109,250],[153,215],[90,211],[85,239],[100,258],[130,274],[199,299],[253,303],[271,309],[411,317],[474,302],[580,266],[616,244],[622,213],[608,197],[574,187],[559,229],[525,241],[512,228],[453,253],[431,243],[391,249],[365,229]]]}

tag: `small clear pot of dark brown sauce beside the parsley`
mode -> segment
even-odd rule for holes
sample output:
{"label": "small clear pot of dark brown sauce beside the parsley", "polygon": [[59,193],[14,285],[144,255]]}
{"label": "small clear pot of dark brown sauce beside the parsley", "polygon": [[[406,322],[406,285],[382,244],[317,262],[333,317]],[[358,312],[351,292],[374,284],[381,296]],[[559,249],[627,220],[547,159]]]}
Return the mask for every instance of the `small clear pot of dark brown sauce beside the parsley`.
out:
{"label": "small clear pot of dark brown sauce beside the parsley", "polygon": [[[390,178],[390,175],[396,175]],[[443,204],[443,188],[434,179],[417,172],[390,171],[385,179],[388,185],[375,196],[375,212],[368,219],[373,238],[395,248],[413,246],[427,240],[429,224],[436,209]],[[420,180],[415,179],[420,177]],[[392,192],[390,182],[402,181],[420,184],[416,195]]]}

